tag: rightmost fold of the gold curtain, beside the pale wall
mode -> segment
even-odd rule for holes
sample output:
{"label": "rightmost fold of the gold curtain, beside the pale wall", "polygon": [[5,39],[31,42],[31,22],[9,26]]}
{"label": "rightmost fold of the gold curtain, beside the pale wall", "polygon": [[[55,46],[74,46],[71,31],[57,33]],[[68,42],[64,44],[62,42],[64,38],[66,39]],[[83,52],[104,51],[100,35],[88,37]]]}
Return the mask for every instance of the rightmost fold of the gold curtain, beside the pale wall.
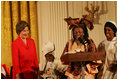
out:
{"label": "rightmost fold of the gold curtain, beside the pale wall", "polygon": [[[30,16],[30,26],[31,26],[31,38],[34,39],[36,43],[36,49],[38,52],[38,28],[37,28],[37,13],[36,13],[36,2],[30,1],[29,2],[29,16]],[[38,54],[37,54],[38,55]]]}

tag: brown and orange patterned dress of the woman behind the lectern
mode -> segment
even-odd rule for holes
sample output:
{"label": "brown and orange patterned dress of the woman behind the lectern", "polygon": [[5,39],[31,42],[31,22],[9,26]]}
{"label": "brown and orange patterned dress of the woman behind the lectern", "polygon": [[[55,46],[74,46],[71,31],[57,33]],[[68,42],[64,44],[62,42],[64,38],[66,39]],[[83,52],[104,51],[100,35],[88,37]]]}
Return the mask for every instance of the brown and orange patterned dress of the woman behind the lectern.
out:
{"label": "brown and orange patterned dress of the woman behind the lectern", "polygon": [[[89,39],[89,43],[84,42],[86,46],[86,52],[96,52],[96,46],[92,39]],[[74,52],[75,50],[81,50],[81,52],[85,52],[85,46],[81,43],[76,43],[73,39],[69,40],[66,44],[66,47],[63,51],[62,56],[65,52]],[[77,54],[77,53],[75,53]],[[94,79],[95,74],[98,73],[98,64],[96,63],[99,61],[87,61],[85,62],[84,66],[84,75],[85,79]],[[101,61],[100,61],[101,63]],[[65,73],[66,76],[70,79],[82,79],[82,69],[81,69],[81,62],[71,62],[68,63],[68,69]]]}

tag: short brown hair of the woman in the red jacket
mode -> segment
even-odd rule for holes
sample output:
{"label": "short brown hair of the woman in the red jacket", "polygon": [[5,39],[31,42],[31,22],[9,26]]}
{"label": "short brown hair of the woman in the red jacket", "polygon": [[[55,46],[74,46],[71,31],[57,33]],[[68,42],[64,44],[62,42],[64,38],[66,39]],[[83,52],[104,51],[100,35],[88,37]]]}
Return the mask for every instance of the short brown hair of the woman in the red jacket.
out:
{"label": "short brown hair of the woman in the red jacket", "polygon": [[25,29],[25,27],[28,27],[28,29],[30,30],[30,26],[28,25],[26,21],[18,22],[16,25],[16,33],[19,35],[20,32]]}

